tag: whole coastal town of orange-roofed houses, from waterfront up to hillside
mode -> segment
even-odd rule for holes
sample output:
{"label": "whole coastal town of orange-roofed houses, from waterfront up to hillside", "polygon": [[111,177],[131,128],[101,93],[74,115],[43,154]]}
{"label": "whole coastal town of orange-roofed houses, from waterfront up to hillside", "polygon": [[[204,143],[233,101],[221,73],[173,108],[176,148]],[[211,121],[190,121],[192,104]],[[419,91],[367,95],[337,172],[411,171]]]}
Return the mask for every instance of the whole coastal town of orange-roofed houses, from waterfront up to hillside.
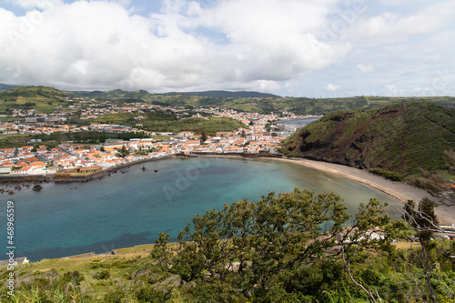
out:
{"label": "whole coastal town of orange-roofed houses, from waterfront up to hillside", "polygon": [[[74,100],[69,100],[74,102]],[[35,113],[35,110],[13,110],[10,117],[17,120],[0,124],[0,132],[6,135],[51,135],[56,133],[98,132],[106,134],[129,133],[129,140],[107,139],[100,144],[58,142],[57,146],[40,144],[32,139],[26,146],[0,149],[0,174],[2,176],[49,175],[57,172],[94,172],[138,161],[175,155],[225,155],[278,153],[279,143],[292,133],[292,129],[279,126],[287,120],[317,118],[319,116],[296,116],[284,112],[274,115],[243,113],[223,106],[199,106],[188,114],[185,106],[159,106],[143,103],[119,106],[114,102],[75,100],[68,110],[50,114]],[[177,118],[205,118],[217,116],[237,120],[245,127],[235,131],[214,134],[192,131],[153,132],[145,130],[141,120],[150,111],[170,112]],[[90,124],[80,126],[66,124],[72,113],[77,112],[81,120],[91,120],[107,114],[134,114],[135,126],[116,124]],[[196,112],[196,114],[195,114]],[[137,135],[137,138],[135,138]]]}

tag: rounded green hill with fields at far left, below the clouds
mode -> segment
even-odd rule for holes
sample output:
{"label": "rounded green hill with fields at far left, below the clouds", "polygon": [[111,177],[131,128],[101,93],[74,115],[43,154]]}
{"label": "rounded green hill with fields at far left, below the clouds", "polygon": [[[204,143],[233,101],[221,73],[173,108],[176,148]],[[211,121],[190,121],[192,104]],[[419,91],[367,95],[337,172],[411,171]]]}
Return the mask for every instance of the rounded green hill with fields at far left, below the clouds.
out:
{"label": "rounded green hill with fields at far left, below the clouds", "polygon": [[0,114],[13,109],[35,109],[36,112],[50,113],[55,106],[65,106],[68,94],[47,86],[18,86],[0,92]]}

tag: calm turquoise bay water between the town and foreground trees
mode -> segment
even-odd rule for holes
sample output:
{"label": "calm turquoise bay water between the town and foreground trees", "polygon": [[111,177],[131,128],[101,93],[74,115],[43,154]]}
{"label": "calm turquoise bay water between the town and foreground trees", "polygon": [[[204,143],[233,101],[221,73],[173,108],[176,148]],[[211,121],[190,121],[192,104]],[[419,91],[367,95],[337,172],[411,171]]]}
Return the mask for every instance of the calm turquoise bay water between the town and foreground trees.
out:
{"label": "calm turquoise bay water between the town and foreground trees", "polygon": [[[6,245],[6,202],[15,203],[15,256],[32,261],[153,243],[160,231],[176,240],[196,214],[247,197],[294,187],[335,192],[349,213],[370,197],[388,202],[398,217],[400,203],[378,190],[292,163],[198,157],[148,162],[82,184],[45,184],[44,189],[0,196]],[[155,172],[154,170],[158,170]],[[4,248],[5,249],[5,248]]]}

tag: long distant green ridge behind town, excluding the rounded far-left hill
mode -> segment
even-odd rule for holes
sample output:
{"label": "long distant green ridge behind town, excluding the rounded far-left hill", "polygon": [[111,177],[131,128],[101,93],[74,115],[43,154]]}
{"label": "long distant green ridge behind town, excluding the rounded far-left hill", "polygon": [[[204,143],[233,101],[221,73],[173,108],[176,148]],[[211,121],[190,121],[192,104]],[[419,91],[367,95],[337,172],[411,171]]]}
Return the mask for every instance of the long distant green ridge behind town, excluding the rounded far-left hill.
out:
{"label": "long distant green ridge behind town, excluding the rounded far-left hill", "polygon": [[[95,98],[100,101],[147,102],[163,106],[226,106],[243,112],[259,114],[287,110],[297,115],[326,115],[334,111],[370,109],[398,103],[427,101],[441,106],[455,106],[452,96],[349,96],[337,98],[281,97],[254,92],[195,92],[150,94],[145,90],[121,89],[101,92],[67,92],[74,96]],[[249,94],[245,94],[249,93]]]}

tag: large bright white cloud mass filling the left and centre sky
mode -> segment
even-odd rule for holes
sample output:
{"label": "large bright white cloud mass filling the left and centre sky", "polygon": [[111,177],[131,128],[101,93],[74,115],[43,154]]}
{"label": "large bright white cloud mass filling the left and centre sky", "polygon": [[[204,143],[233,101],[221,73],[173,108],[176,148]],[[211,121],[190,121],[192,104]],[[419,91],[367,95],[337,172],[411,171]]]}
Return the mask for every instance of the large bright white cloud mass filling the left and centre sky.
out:
{"label": "large bright white cloud mass filling the left and centre sky", "polygon": [[149,17],[134,15],[125,1],[53,1],[34,10],[39,3],[21,1],[29,8],[25,16],[0,10],[0,82],[155,91],[267,83],[278,89],[349,50],[312,34],[335,0],[224,0],[208,8],[167,0]]}

